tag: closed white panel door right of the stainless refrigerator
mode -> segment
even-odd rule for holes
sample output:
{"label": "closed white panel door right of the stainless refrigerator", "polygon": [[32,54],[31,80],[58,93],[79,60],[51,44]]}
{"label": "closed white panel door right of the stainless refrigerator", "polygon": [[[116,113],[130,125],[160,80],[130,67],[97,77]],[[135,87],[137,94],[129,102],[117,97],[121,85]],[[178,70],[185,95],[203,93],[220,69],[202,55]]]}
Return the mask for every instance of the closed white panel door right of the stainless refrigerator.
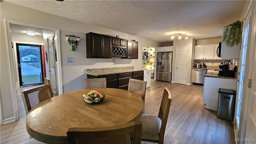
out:
{"label": "closed white panel door right of the stainless refrigerator", "polygon": [[176,83],[186,84],[188,46],[176,47]]}

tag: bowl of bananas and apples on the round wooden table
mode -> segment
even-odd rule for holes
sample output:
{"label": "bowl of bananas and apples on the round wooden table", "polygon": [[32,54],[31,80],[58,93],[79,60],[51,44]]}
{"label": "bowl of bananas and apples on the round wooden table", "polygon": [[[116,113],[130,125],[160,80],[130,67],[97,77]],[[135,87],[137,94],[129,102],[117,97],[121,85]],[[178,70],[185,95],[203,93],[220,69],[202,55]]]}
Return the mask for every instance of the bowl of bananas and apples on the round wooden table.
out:
{"label": "bowl of bananas and apples on the round wooden table", "polygon": [[91,90],[88,94],[83,94],[84,102],[88,104],[98,104],[102,102],[105,98],[105,94],[97,92],[96,90]]}

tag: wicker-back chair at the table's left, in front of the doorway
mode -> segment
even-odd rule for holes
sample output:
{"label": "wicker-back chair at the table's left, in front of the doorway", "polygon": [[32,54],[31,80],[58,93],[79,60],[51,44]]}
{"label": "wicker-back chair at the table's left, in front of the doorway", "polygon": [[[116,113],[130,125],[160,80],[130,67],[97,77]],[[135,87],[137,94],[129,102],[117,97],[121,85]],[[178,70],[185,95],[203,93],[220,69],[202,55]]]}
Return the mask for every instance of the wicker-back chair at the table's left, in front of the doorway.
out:
{"label": "wicker-back chair at the table's left, in front of the doorway", "polygon": [[21,92],[26,114],[40,102],[53,97],[51,84]]}

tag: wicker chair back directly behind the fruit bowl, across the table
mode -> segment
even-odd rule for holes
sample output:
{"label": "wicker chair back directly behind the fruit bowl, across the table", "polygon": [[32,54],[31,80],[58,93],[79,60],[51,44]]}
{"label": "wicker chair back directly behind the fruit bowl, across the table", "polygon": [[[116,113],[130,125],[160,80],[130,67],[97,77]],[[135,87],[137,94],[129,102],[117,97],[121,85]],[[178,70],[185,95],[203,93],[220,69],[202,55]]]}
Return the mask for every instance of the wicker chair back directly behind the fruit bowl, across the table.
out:
{"label": "wicker chair back directly behind the fruit bowl, across the table", "polygon": [[85,89],[89,88],[106,88],[107,80],[106,78],[87,78],[84,79]]}

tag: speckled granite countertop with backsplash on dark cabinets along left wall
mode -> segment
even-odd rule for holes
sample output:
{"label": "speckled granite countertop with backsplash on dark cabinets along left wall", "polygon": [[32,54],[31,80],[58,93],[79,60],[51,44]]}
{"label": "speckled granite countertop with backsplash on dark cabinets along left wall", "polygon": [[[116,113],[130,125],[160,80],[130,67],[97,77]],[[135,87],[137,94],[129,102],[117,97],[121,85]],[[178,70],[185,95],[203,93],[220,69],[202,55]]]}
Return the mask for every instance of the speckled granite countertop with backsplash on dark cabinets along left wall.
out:
{"label": "speckled granite countertop with backsplash on dark cabinets along left wall", "polygon": [[125,72],[137,72],[143,71],[142,69],[134,69],[134,66],[128,67],[116,67],[116,68],[94,68],[94,69],[86,69],[86,74],[90,74],[92,76],[102,76],[108,74],[120,74]]}

